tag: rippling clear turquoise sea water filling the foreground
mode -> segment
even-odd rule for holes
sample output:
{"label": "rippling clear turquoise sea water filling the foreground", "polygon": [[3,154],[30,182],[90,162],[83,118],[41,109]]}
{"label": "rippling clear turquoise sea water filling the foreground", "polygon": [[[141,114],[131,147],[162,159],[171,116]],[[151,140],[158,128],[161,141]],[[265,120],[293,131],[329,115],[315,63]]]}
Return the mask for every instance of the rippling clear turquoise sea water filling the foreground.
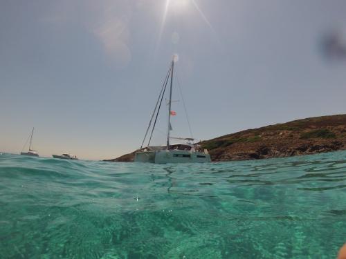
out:
{"label": "rippling clear turquoise sea water filling the foreground", "polygon": [[335,258],[346,152],[210,164],[0,155],[0,258]]}

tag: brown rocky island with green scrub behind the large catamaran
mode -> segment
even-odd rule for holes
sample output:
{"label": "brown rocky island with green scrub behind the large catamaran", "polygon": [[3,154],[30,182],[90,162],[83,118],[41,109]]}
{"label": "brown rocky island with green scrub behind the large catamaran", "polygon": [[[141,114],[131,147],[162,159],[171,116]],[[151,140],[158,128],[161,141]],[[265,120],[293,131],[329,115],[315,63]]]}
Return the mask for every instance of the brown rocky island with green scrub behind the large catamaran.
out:
{"label": "brown rocky island with green scrub behind the large catamaran", "polygon": [[[346,149],[346,115],[298,119],[248,129],[201,143],[212,161],[257,160]],[[112,160],[133,162],[134,151]]]}

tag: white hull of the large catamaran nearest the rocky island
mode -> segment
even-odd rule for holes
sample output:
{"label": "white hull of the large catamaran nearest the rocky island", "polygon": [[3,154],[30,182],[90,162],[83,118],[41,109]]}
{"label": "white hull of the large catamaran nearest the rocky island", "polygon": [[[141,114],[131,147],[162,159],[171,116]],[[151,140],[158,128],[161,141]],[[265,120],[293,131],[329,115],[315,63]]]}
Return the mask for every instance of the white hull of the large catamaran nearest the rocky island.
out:
{"label": "white hull of the large catamaran nearest the rocky island", "polygon": [[206,153],[170,150],[137,152],[134,157],[134,162],[149,162],[155,164],[206,163],[211,162],[211,160],[210,155]]}

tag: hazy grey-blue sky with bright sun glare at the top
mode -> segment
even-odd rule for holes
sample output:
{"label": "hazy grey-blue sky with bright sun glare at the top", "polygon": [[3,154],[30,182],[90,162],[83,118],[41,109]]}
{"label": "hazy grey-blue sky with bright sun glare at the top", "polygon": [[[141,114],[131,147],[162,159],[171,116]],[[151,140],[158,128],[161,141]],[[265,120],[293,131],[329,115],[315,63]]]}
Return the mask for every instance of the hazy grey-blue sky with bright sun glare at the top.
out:
{"label": "hazy grey-blue sky with bright sun glare at the top", "polygon": [[[345,10],[344,0],[1,1],[0,151],[19,153],[33,127],[40,156],[136,150],[172,55],[176,137],[190,137],[183,104],[199,140],[346,113],[346,59],[321,44],[337,31],[346,46]],[[165,116],[152,144],[165,144]]]}

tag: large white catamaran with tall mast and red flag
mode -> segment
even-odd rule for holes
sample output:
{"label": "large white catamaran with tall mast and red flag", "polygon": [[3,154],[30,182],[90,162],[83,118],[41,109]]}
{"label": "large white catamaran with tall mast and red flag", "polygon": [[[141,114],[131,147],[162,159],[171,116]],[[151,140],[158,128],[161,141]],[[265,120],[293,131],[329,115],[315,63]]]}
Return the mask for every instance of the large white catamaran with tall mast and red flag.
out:
{"label": "large white catamaran with tall mast and red flag", "polygon": [[[150,119],[149,126],[145,133],[144,140],[142,142],[142,146],[140,146],[140,151],[135,153],[134,162],[151,162],[155,164],[166,164],[166,163],[203,163],[210,162],[210,155],[208,151],[204,149],[201,150],[201,146],[199,144],[195,144],[194,141],[196,139],[192,137],[171,137],[170,131],[172,130],[171,126],[171,116],[176,115],[175,111],[172,111],[172,86],[173,86],[173,74],[174,73],[174,57],[172,59],[172,63],[170,64],[170,68],[165,77],[165,81],[163,83],[163,87],[161,89],[160,95],[158,95],[158,100],[156,102],[156,106],[154,108],[154,113],[152,113],[152,118]],[[149,146],[150,141],[152,139],[152,133],[154,131],[156,125],[156,119],[158,117],[158,112],[160,111],[160,107],[162,104],[163,96],[165,95],[166,86],[168,80],[170,79],[170,97],[168,99],[168,123],[167,123],[167,142],[165,146]],[[143,144],[149,132],[149,128],[151,127],[152,120],[156,115],[154,126],[152,127],[152,133],[149,138],[149,142],[145,148],[143,148]],[[178,144],[171,144],[170,140],[175,139],[179,140]]]}

